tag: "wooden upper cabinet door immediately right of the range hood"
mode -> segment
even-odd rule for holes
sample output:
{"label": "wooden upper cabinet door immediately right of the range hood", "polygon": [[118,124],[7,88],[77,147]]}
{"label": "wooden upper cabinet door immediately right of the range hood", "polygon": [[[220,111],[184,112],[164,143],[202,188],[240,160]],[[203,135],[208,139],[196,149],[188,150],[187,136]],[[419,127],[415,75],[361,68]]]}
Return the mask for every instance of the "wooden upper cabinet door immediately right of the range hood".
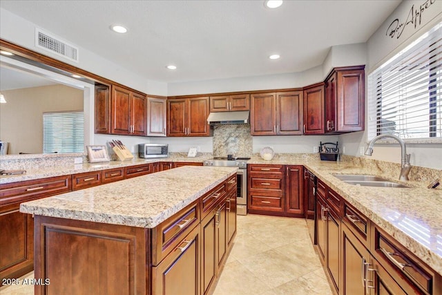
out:
{"label": "wooden upper cabinet door immediately right of the range hood", "polygon": [[275,95],[275,93],[257,93],[251,95],[251,135],[276,134]]}

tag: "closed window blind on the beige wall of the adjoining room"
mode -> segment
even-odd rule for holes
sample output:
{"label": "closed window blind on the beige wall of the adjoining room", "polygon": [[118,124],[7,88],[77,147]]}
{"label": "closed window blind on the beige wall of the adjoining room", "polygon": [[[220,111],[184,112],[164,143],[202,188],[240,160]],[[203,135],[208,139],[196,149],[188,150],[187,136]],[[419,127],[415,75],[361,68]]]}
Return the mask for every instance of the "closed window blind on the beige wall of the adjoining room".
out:
{"label": "closed window blind on the beige wall of the adjoining room", "polygon": [[43,113],[43,153],[83,152],[83,111]]}

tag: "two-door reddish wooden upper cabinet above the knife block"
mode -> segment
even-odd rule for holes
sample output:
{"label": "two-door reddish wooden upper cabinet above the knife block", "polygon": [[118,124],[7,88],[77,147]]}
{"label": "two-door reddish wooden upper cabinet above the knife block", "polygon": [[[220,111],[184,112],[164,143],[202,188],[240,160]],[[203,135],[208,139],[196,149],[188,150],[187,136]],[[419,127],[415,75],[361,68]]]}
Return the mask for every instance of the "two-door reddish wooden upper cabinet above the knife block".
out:
{"label": "two-door reddish wooden upper cabinet above the knife block", "polygon": [[146,97],[126,88],[112,86],[111,133],[146,135]]}

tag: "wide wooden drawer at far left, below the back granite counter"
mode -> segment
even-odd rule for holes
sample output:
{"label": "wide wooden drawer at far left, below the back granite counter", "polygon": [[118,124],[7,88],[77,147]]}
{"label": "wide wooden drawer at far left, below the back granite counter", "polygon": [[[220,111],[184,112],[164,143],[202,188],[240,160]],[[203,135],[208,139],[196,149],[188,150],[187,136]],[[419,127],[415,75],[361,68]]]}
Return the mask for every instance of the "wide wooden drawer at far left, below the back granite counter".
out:
{"label": "wide wooden drawer at far left, below the back granite counter", "polygon": [[0,184],[0,206],[54,196],[72,189],[70,175]]}

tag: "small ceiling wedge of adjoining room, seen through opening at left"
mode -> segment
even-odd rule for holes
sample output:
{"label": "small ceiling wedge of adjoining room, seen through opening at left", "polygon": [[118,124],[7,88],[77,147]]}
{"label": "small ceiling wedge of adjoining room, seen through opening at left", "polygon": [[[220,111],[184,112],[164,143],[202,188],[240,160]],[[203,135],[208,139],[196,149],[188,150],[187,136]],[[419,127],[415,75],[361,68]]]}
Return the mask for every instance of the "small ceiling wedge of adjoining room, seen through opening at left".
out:
{"label": "small ceiling wedge of adjoining room, seen through opening at left", "polygon": [[11,68],[0,67],[0,91],[55,85],[50,79]]}

